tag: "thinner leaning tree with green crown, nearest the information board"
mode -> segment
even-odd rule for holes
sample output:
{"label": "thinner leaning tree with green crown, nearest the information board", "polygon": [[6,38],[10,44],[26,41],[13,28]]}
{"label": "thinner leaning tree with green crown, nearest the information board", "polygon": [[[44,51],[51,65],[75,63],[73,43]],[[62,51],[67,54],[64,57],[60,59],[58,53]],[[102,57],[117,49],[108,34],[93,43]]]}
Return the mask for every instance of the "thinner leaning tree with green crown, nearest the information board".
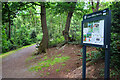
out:
{"label": "thinner leaning tree with green crown, nearest the information board", "polygon": [[51,9],[55,15],[67,13],[65,29],[62,31],[65,43],[72,41],[72,38],[69,37],[69,30],[73,13],[79,14],[79,17],[82,16],[82,14],[85,12],[84,5],[84,2],[79,3],[77,0],[74,0],[74,2],[58,2],[55,5],[52,3],[53,7],[51,7]]}

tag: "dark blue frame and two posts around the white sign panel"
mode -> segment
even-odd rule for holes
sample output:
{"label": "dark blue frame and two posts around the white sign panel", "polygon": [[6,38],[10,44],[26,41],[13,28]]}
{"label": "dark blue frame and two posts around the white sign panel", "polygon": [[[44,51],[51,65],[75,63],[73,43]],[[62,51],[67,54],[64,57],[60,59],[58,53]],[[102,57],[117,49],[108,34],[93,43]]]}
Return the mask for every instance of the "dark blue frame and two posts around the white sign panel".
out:
{"label": "dark blue frame and two posts around the white sign panel", "polygon": [[[110,37],[111,37],[111,10],[104,9],[102,11],[94,12],[92,14],[88,14],[87,16],[91,16],[96,13],[104,13],[104,11],[108,12],[108,15],[102,15],[97,17],[92,17],[89,19],[84,19],[82,21],[82,36],[81,36],[81,44],[83,45],[83,60],[82,60],[82,79],[86,79],[86,45],[93,46],[93,47],[101,47],[105,49],[105,68],[104,68],[104,79],[109,80],[110,78]],[[86,15],[85,15],[86,16]],[[96,21],[96,20],[104,20],[104,45],[97,45],[97,44],[88,44],[83,43],[83,24],[85,22]]]}

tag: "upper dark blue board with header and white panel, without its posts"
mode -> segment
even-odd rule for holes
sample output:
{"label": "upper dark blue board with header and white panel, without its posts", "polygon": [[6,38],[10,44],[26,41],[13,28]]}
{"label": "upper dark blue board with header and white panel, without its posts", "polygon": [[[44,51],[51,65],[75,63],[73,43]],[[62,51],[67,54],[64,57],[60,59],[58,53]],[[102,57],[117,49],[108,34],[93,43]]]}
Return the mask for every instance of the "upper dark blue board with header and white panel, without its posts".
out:
{"label": "upper dark blue board with header and white panel, without its posts", "polygon": [[106,47],[107,32],[109,32],[109,10],[94,12],[83,16],[82,44],[96,47]]}

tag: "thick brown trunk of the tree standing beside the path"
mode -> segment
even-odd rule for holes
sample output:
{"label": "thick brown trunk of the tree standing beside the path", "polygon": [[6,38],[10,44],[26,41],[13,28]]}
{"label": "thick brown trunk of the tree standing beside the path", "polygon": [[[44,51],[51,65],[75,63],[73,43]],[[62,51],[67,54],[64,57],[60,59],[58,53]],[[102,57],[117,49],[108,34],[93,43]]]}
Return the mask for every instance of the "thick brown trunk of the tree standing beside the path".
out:
{"label": "thick brown trunk of the tree standing beside the path", "polygon": [[46,49],[48,48],[48,29],[46,23],[46,8],[44,3],[41,4],[41,26],[43,31],[43,38],[38,47],[38,54],[45,53]]}

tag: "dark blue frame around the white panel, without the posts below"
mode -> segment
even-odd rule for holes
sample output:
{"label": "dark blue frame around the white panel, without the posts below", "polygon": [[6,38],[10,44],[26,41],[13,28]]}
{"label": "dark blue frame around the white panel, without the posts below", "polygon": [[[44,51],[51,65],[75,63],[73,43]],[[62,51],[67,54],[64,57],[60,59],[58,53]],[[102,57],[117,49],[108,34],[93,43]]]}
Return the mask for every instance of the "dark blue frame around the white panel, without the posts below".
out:
{"label": "dark blue frame around the white panel, without the posts below", "polygon": [[[100,15],[100,16],[97,16],[97,17],[92,17],[92,18],[88,18],[88,19],[84,19],[85,16],[92,16],[94,14],[103,14],[104,11],[106,10],[106,13],[108,12],[107,15]],[[98,11],[98,12],[94,12],[94,13],[91,13],[91,14],[87,14],[87,15],[84,15],[83,16],[83,21],[82,21],[82,31],[81,31],[81,44],[82,45],[86,45],[86,46],[93,46],[93,47],[100,47],[100,48],[108,48],[109,46],[109,42],[108,40],[110,39],[110,23],[109,21],[110,20],[110,16],[111,16],[111,13],[109,11],[109,9],[105,9],[105,10],[102,10],[102,11]],[[98,44],[91,44],[91,43],[83,43],[83,26],[84,26],[84,23],[86,22],[91,22],[91,21],[96,21],[96,20],[104,20],[104,45],[98,45]]]}

